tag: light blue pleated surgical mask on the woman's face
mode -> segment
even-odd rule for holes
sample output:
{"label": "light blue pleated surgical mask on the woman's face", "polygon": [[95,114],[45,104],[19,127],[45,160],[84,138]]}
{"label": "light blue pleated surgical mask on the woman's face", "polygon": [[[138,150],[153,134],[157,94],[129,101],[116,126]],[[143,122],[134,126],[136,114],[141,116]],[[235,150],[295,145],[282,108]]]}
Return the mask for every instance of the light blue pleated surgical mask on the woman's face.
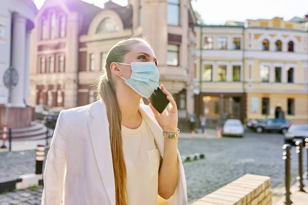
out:
{"label": "light blue pleated surgical mask on the woman's face", "polygon": [[130,64],[122,64],[131,67],[131,76],[125,79],[125,83],[142,97],[149,98],[158,88],[159,72],[155,62],[132,62]]}

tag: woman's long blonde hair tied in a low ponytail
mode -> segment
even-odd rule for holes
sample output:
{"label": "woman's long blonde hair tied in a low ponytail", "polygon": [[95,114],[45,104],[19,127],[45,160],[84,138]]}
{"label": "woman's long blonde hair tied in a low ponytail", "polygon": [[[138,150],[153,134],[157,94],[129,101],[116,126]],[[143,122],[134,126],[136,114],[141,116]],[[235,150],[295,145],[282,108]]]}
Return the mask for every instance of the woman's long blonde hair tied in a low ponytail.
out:
{"label": "woman's long blonde hair tied in a low ponytail", "polygon": [[117,205],[127,204],[126,166],[124,161],[121,131],[121,110],[115,96],[115,85],[112,82],[110,65],[113,62],[123,63],[124,55],[133,49],[133,46],[143,43],[152,48],[144,37],[132,36],[115,44],[107,53],[105,71],[97,84],[98,98],[101,98],[107,110],[109,120],[110,146],[112,152],[113,173],[115,182],[115,201]]}

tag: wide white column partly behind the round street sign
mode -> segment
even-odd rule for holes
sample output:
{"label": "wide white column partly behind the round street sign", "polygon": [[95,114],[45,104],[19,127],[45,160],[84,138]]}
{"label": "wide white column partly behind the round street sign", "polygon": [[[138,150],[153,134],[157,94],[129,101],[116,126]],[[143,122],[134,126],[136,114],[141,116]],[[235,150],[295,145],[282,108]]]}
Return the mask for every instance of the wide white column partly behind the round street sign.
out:
{"label": "wide white column partly behind the round street sign", "polygon": [[12,34],[12,66],[17,70],[18,83],[12,90],[12,107],[25,107],[24,98],[24,74],[25,74],[25,50],[26,50],[26,19],[13,14]]}

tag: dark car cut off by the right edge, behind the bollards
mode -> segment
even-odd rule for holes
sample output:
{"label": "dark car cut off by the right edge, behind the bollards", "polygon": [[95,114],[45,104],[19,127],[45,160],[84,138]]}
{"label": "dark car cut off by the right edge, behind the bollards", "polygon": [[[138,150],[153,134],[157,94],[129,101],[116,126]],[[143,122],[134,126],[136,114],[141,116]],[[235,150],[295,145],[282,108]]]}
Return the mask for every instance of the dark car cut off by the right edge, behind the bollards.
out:
{"label": "dark car cut off by the right edge, behind the bollards", "polygon": [[292,125],[284,134],[286,144],[295,145],[297,140],[308,138],[308,125]]}

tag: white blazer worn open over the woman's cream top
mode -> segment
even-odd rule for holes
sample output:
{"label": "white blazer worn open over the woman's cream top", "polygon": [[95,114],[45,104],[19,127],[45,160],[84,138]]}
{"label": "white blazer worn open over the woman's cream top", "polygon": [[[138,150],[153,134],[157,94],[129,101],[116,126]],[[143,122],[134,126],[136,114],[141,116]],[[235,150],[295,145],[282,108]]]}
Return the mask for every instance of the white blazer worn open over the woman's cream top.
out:
{"label": "white blazer worn open over the woman's cream top", "polygon": [[[140,104],[139,110],[163,157],[162,129],[149,106]],[[187,204],[179,151],[178,161],[178,185],[164,204]],[[42,205],[60,205],[62,200],[63,205],[115,205],[109,122],[102,100],[59,115],[47,154]]]}

